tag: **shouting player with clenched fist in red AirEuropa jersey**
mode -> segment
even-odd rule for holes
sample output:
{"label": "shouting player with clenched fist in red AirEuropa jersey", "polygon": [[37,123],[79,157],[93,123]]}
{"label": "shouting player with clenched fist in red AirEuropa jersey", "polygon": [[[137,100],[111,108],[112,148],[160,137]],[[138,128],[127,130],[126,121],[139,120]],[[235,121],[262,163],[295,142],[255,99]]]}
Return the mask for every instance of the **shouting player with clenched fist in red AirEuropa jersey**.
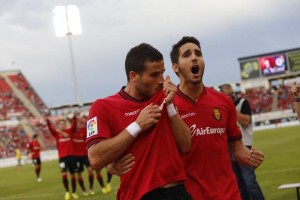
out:
{"label": "shouting player with clenched fist in red AirEuropa jersey", "polygon": [[239,164],[252,168],[264,156],[243,144],[231,99],[203,84],[205,63],[199,41],[183,37],[173,45],[170,56],[180,80],[174,104],[192,136],[191,151],[182,155],[187,190],[197,200],[240,200],[230,152]]}

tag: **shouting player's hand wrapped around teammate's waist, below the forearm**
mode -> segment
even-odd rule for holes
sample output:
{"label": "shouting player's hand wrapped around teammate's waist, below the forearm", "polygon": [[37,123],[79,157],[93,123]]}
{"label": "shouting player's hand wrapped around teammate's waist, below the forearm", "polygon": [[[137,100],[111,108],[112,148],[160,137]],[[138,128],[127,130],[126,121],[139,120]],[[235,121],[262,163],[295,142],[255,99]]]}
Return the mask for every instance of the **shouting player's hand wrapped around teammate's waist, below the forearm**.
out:
{"label": "shouting player's hand wrapped around teammate's waist, below the forearm", "polygon": [[135,164],[134,159],[135,157],[132,154],[127,154],[114,163],[107,165],[107,170],[113,175],[122,176],[131,170]]}

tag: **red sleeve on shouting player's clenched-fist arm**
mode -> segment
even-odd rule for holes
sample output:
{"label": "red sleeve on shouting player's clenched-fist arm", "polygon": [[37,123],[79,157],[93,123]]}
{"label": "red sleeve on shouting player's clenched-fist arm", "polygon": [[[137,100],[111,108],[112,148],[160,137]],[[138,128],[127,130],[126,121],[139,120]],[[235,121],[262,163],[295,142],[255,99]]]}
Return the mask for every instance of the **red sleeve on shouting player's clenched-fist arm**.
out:
{"label": "red sleeve on shouting player's clenched-fist arm", "polygon": [[228,141],[235,141],[242,138],[241,129],[238,126],[237,113],[231,99],[227,99],[228,105]]}

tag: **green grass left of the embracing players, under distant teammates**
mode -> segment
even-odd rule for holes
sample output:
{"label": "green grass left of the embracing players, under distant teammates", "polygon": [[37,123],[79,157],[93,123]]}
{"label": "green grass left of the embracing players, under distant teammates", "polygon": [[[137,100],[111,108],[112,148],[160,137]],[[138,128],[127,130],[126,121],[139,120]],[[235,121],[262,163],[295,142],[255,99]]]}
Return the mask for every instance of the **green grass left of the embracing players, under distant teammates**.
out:
{"label": "green grass left of the embracing players, under distant teammates", "polygon": [[[102,170],[102,176],[103,181],[106,182],[105,169]],[[43,181],[38,183],[31,164],[23,165],[21,168],[0,168],[0,200],[63,200],[65,191],[60,178],[57,160],[42,163],[41,177]],[[83,173],[83,177],[85,178],[85,187],[88,188],[87,172]],[[111,184],[112,192],[102,194],[100,185],[95,177],[94,190],[96,194],[94,196],[83,196],[78,184],[77,194],[80,196],[79,199],[116,199],[119,178],[113,176]]]}

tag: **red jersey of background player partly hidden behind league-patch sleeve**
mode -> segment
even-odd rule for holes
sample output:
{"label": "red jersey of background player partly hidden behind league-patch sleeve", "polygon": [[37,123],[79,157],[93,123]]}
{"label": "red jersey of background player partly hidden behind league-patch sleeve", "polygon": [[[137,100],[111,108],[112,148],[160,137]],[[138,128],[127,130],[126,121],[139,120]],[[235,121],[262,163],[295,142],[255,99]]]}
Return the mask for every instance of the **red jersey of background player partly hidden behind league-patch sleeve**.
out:
{"label": "red jersey of background player partly hidden behind league-patch sleeve", "polygon": [[87,155],[87,150],[86,150],[86,146],[85,146],[85,138],[86,138],[86,126],[77,130],[72,138],[75,156],[86,156]]}

